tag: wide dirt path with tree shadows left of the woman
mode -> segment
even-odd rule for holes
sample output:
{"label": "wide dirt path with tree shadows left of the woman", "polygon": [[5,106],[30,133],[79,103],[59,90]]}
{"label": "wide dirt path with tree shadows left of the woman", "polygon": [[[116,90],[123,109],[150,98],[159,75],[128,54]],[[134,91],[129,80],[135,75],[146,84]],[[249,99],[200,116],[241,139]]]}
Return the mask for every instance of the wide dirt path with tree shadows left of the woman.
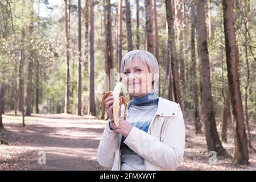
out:
{"label": "wide dirt path with tree shadows left of the woman", "polygon": [[[104,170],[96,160],[105,122],[67,114],[4,115],[5,135],[10,146],[1,146],[0,169]],[[12,122],[9,122],[12,121]],[[38,159],[46,154],[46,164]],[[40,158],[43,162],[42,158]]]}

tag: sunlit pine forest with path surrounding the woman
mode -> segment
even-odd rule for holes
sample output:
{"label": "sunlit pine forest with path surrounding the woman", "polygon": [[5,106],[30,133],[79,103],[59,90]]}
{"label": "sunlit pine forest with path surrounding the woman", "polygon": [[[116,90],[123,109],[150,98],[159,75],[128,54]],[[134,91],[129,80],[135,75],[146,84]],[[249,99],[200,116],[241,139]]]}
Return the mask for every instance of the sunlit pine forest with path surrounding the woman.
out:
{"label": "sunlit pine forest with path surrounding the woman", "polygon": [[108,170],[101,98],[135,49],[183,111],[177,170],[256,170],[255,16],[255,0],[0,0],[0,170]]}

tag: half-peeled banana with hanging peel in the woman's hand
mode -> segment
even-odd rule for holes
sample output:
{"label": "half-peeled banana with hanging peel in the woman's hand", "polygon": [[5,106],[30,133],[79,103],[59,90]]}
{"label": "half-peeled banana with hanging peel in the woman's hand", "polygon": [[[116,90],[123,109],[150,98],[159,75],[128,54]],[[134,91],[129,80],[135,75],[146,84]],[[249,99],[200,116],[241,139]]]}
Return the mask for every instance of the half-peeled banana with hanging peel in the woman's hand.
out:
{"label": "half-peeled banana with hanging peel in the woman's hand", "polygon": [[105,103],[105,98],[108,97],[112,93],[112,95],[114,97],[113,117],[114,117],[114,123],[117,127],[119,126],[119,109],[120,109],[120,100],[121,99],[122,99],[123,104],[125,105],[125,110],[123,112],[123,119],[126,119],[127,100],[123,96],[119,97],[122,86],[123,86],[123,83],[118,82],[117,85],[115,85],[113,92],[112,91],[106,92],[101,99],[101,106],[100,106],[100,109],[101,109]]}

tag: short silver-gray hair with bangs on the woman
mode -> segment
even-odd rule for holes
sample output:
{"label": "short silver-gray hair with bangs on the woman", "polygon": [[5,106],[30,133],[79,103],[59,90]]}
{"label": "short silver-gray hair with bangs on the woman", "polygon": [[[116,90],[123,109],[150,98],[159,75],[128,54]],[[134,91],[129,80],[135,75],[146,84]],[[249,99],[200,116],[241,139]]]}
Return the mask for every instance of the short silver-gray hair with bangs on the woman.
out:
{"label": "short silver-gray hair with bangs on the woman", "polygon": [[148,67],[149,73],[154,75],[154,92],[158,93],[158,83],[159,83],[159,65],[158,60],[156,60],[155,56],[152,53],[142,50],[133,50],[127,52],[125,56],[123,56],[120,64],[120,73],[123,73],[123,69],[125,68],[125,64],[130,64],[131,60],[141,60]]}

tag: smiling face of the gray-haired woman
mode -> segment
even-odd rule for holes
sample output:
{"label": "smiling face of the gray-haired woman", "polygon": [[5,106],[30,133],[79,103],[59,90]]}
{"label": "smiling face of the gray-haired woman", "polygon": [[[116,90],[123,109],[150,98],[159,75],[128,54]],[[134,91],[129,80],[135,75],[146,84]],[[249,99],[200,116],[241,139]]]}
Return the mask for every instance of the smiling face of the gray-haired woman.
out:
{"label": "smiling face of the gray-haired woman", "polygon": [[134,97],[144,96],[152,89],[152,74],[140,59],[125,64],[122,78],[127,92]]}

